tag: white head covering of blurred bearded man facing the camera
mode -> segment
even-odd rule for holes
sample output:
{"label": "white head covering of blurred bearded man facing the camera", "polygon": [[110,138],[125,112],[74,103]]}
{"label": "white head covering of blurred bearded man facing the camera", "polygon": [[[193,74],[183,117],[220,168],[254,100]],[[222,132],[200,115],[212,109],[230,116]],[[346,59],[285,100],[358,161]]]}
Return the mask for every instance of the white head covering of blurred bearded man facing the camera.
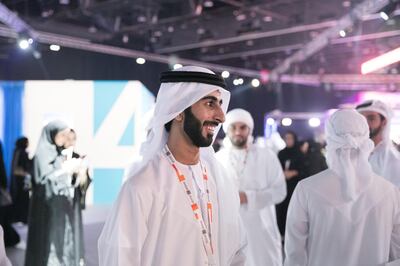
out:
{"label": "white head covering of blurred bearded man facing the camera", "polygon": [[251,114],[240,108],[230,110],[225,116],[225,123],[222,125],[222,128],[226,134],[223,145],[224,147],[232,147],[232,142],[229,139],[227,133],[229,127],[237,122],[241,122],[246,124],[250,128],[249,137],[247,138],[247,144],[251,144],[253,142],[253,129],[254,129],[254,120]]}

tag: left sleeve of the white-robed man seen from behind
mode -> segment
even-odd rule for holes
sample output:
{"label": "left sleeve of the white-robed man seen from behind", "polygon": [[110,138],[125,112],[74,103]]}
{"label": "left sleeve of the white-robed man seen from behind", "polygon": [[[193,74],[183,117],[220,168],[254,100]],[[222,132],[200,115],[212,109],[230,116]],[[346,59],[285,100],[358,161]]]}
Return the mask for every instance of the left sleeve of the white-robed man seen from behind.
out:
{"label": "left sleeve of the white-robed man seen from behind", "polygon": [[309,221],[306,206],[307,199],[300,182],[293,192],[286,219],[285,266],[308,265]]}

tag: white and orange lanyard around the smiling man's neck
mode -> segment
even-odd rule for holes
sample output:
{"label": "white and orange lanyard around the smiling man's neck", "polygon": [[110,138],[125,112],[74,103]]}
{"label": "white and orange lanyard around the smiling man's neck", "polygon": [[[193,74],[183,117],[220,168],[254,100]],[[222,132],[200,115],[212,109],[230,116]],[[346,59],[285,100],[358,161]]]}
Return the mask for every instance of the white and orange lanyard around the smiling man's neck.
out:
{"label": "white and orange lanyard around the smiling man's neck", "polygon": [[212,261],[213,261],[213,254],[214,254],[212,238],[211,238],[211,236],[212,236],[212,234],[211,234],[211,224],[213,222],[213,217],[212,217],[212,203],[211,203],[211,198],[210,198],[210,189],[208,187],[207,169],[202,165],[202,163],[200,161],[200,165],[201,165],[202,172],[203,172],[204,188],[206,189],[206,193],[207,193],[208,228],[207,228],[207,226],[206,226],[206,224],[204,222],[204,219],[203,219],[203,216],[201,214],[201,210],[200,210],[199,204],[194,200],[193,193],[190,190],[190,187],[186,182],[187,181],[186,177],[179,171],[178,166],[176,164],[176,160],[172,156],[172,153],[168,149],[167,145],[165,145],[165,147],[163,149],[163,152],[164,152],[165,156],[167,157],[169,163],[171,164],[172,168],[174,169],[176,177],[178,178],[178,181],[182,184],[184,192],[185,192],[186,196],[188,197],[188,199],[190,201],[190,207],[192,209],[192,212],[193,212],[195,220],[198,222],[198,224],[200,226],[203,246],[204,246],[205,252],[207,254],[207,257],[209,259],[209,263],[211,264]]}

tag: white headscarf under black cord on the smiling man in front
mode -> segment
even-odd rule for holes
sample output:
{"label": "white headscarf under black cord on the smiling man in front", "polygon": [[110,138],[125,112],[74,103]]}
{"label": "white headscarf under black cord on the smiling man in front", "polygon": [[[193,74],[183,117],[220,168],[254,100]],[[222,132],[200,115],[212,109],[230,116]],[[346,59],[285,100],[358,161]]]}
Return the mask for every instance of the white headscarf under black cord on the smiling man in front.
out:
{"label": "white headscarf under black cord on the smiling man in front", "polygon": [[[174,70],[175,72],[191,71],[215,74],[209,69],[197,66],[185,66]],[[222,98],[222,110],[226,113],[228,109],[230,93],[222,87],[197,82],[172,82],[161,83],[160,90],[157,94],[157,100],[154,109],[154,116],[151,119],[147,129],[149,130],[146,141],[140,148],[140,156],[142,161],[140,165],[135,165],[129,171],[129,176],[132,176],[136,170],[144,166],[157,152],[159,152],[167,143],[168,132],[165,130],[164,125],[173,120],[186,108],[192,106],[204,96],[213,91],[220,91]],[[214,139],[220,129],[218,126]],[[201,155],[210,156],[214,154],[212,147],[200,148]]]}

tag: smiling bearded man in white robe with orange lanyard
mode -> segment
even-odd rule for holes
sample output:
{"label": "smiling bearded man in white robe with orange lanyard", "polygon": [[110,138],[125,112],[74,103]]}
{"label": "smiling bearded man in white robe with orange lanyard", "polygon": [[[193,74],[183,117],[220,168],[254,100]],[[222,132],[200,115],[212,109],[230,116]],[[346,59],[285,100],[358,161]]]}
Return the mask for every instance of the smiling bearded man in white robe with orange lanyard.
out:
{"label": "smiling bearded man in white robe with orange lanyard", "polygon": [[142,160],[99,238],[101,266],[244,265],[239,197],[210,147],[225,86],[201,67],[162,73]]}

